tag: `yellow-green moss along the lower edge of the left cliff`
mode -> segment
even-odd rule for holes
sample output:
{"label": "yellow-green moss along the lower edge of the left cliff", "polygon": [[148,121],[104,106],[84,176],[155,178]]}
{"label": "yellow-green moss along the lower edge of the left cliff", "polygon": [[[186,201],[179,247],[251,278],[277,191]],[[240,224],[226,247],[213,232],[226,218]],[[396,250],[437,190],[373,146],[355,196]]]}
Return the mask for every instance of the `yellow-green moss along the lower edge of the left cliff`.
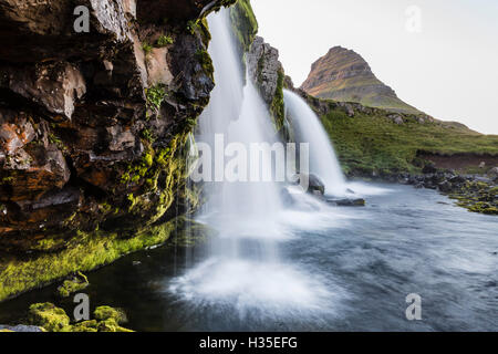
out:
{"label": "yellow-green moss along the lower edge of the left cliff", "polygon": [[[184,225],[183,218],[169,216],[164,219],[175,199],[181,197],[178,191],[184,191],[184,198],[188,198],[190,204],[198,202],[198,197],[194,192],[187,192],[185,188],[189,171],[185,156],[188,149],[184,147],[188,146],[189,134],[180,133],[172,139],[168,147],[153,150],[151,167],[148,158],[144,158],[145,164],[138,164],[145,165],[146,173],[143,176],[151,179],[153,185],[157,185],[159,178],[163,178],[164,185],[159,195],[158,190],[136,197],[128,195],[126,220],[147,220],[142,229],[133,229],[132,235],[126,230],[107,232],[97,228],[92,232],[74,231],[64,237],[48,236],[43,248],[51,247],[50,252],[35,252],[23,258],[0,253],[0,301],[48,285],[69,274],[110,264],[125,254],[165,243]],[[154,202],[151,201],[153,197],[156,198]],[[73,284],[69,288],[72,290]],[[65,294],[65,290],[63,292]]]}

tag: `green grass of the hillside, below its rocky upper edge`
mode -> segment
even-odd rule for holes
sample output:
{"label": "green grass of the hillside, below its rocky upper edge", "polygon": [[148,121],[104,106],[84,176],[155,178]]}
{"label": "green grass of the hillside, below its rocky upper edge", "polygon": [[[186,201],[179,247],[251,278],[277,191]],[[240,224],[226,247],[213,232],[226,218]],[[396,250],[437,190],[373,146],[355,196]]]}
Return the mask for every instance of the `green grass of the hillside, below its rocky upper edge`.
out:
{"label": "green grass of the hillside, below its rocky upper edge", "polygon": [[418,152],[498,156],[496,135],[480,135],[437,121],[421,124],[416,117],[404,117],[405,123],[397,125],[388,115],[356,112],[354,117],[349,117],[341,108],[335,108],[321,117],[347,174],[417,173],[424,166],[417,158]]}

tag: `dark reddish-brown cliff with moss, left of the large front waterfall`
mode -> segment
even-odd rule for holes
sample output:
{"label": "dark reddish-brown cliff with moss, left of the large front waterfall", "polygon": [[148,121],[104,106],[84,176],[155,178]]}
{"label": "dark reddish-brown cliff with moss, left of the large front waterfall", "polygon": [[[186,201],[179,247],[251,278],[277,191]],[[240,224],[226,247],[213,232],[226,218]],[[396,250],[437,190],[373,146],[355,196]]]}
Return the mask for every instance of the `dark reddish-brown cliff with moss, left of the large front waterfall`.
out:
{"label": "dark reddish-brown cliff with moss, left of the large front waterfall", "polygon": [[0,0],[0,301],[162,243],[195,207],[204,19],[235,2]]}

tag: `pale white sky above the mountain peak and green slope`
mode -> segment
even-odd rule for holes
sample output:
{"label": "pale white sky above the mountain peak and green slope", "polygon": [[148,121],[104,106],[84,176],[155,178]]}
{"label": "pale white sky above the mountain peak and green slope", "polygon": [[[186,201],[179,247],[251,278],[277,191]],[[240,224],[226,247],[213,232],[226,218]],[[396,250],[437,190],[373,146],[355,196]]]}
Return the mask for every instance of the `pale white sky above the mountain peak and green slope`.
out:
{"label": "pale white sky above the mountain peak and green slope", "polygon": [[[436,118],[498,134],[498,0],[251,3],[259,35],[279,49],[295,86],[317,59],[342,45],[360,53],[406,103]],[[408,9],[419,9],[419,27]]]}

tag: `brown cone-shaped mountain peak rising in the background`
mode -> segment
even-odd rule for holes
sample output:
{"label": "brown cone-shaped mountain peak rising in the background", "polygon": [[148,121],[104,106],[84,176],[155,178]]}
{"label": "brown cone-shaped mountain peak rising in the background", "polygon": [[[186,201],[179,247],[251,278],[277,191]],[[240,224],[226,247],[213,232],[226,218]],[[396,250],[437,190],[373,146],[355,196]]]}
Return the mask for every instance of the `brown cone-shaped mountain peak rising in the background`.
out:
{"label": "brown cone-shaped mountain peak rising in the background", "polygon": [[320,98],[356,102],[400,113],[421,113],[382,83],[360,54],[341,46],[332,48],[313,63],[301,88]]}

